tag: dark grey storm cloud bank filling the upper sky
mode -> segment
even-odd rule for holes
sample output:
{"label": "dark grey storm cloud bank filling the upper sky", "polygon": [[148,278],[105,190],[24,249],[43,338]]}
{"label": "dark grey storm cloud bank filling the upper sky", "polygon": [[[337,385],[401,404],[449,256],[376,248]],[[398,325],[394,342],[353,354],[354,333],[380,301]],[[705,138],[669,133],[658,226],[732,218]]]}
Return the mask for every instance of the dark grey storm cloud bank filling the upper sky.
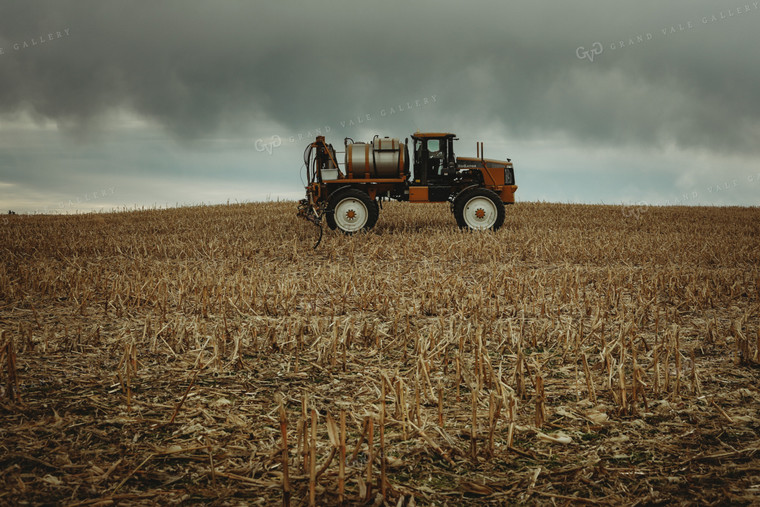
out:
{"label": "dark grey storm cloud bank filling the upper sky", "polygon": [[183,139],[302,132],[436,94],[459,130],[758,151],[753,2],[6,2],[0,26],[0,114],[72,133],[116,109]]}

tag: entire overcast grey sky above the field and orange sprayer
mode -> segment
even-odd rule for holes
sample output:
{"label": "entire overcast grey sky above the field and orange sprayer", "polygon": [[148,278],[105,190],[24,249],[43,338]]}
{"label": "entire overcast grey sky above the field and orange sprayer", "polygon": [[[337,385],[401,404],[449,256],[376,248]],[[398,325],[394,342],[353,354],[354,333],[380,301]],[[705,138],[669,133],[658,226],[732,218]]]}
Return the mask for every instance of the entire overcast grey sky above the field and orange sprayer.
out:
{"label": "entire overcast grey sky above the field and orange sprayer", "polygon": [[522,201],[758,205],[759,34],[757,1],[3,2],[0,206],[297,199],[317,129],[484,141]]}

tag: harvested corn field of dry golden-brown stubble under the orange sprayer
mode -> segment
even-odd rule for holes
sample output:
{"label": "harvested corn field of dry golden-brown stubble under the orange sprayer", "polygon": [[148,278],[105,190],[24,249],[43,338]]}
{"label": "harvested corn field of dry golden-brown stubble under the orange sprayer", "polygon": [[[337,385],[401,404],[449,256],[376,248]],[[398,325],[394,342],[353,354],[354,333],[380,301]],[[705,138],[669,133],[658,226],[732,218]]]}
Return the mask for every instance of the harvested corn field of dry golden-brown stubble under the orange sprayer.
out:
{"label": "harvested corn field of dry golden-brown stubble under the orange sprayer", "polygon": [[760,502],[760,210],[0,227],[0,503]]}

